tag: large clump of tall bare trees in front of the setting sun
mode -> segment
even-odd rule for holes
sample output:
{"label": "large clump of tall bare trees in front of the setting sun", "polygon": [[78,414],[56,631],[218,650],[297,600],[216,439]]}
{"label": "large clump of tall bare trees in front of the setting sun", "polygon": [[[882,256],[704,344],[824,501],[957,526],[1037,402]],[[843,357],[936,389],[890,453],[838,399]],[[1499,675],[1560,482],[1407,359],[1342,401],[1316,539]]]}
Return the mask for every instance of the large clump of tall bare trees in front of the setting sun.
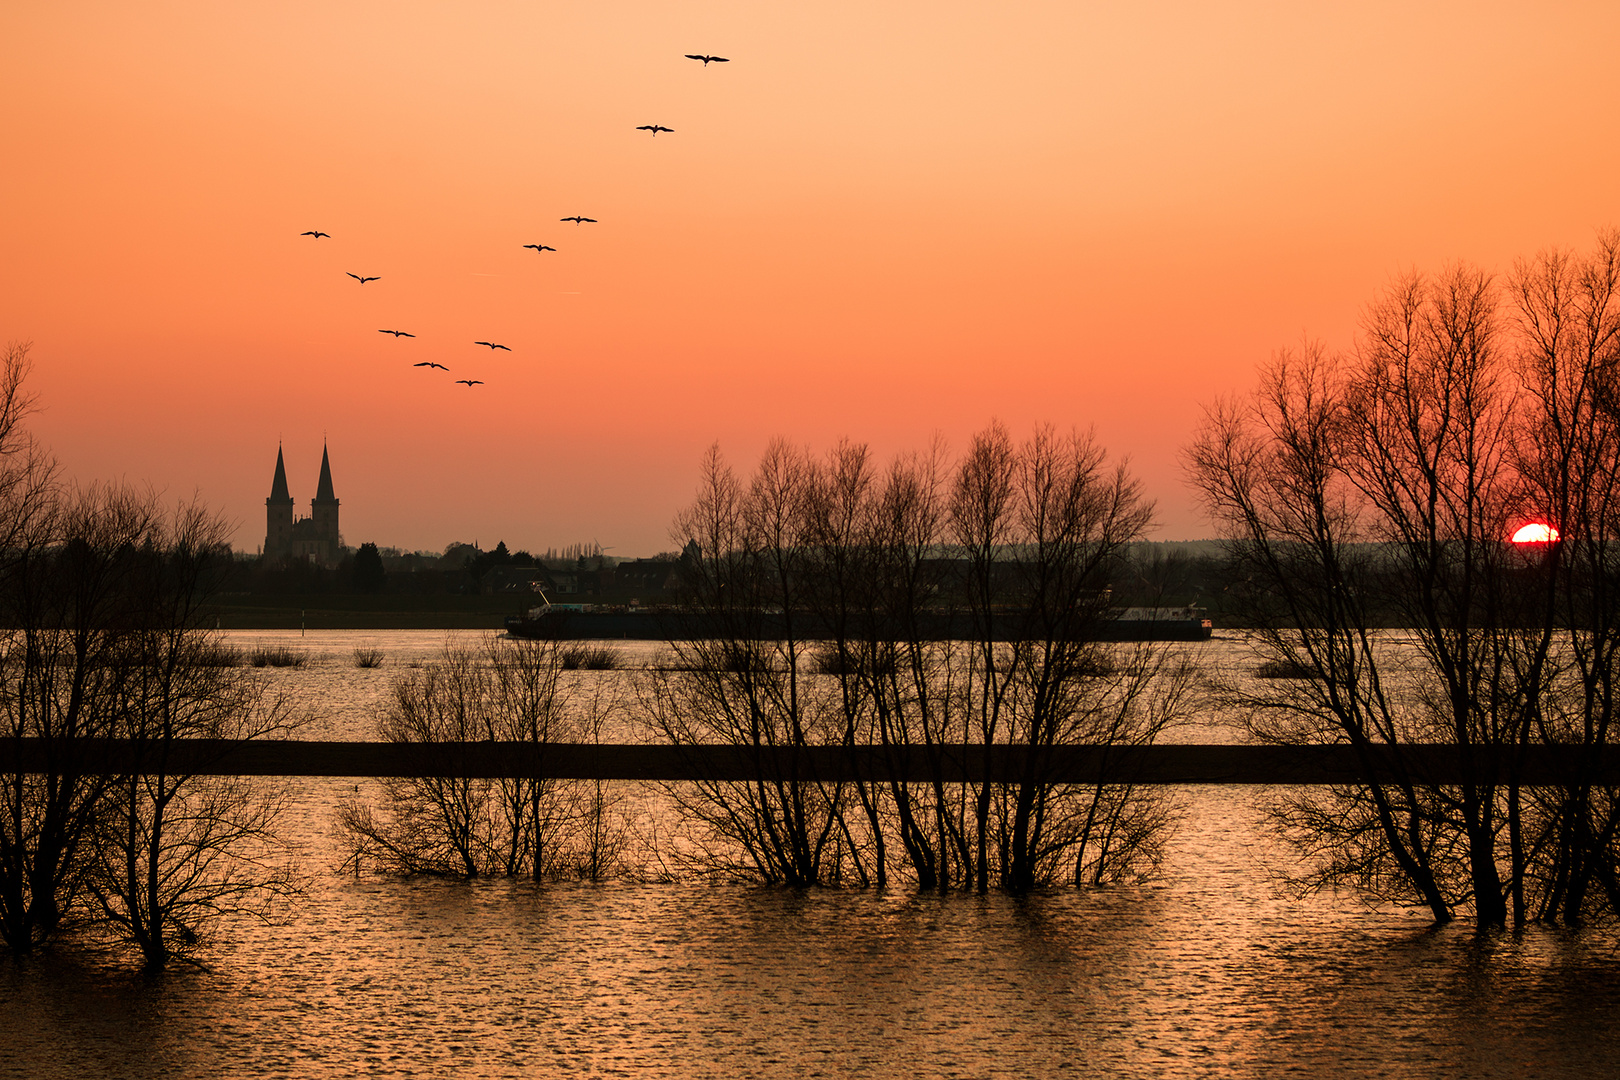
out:
{"label": "large clump of tall bare trees in front of the setting sun", "polygon": [[[1230,693],[1257,737],[1343,742],[1379,777],[1283,808],[1307,884],[1502,925],[1578,918],[1567,886],[1614,874],[1589,776],[1520,782],[1526,746],[1607,738],[1614,287],[1614,238],[1521,264],[1507,311],[1477,270],[1413,275],[1354,353],[1280,353],[1189,450],[1265,659],[1304,675]],[[1531,518],[1568,541],[1510,544]],[[1426,777],[1416,743],[1453,746],[1455,782]]]}

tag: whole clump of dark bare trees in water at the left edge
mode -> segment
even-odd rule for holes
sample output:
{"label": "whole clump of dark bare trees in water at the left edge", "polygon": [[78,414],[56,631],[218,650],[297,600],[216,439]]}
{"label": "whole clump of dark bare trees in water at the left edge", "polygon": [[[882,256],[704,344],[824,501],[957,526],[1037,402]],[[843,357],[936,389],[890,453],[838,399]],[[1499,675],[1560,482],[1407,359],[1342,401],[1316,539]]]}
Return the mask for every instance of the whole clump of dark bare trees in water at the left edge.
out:
{"label": "whole clump of dark bare trees in water at the left edge", "polygon": [[[0,763],[0,938],[26,952],[110,925],[159,968],[207,915],[288,884],[274,789],[188,776],[167,750],[280,730],[287,714],[202,628],[230,565],[217,518],[60,484],[19,427],[26,361],[13,347],[0,376],[0,729],[37,767]],[[87,759],[100,738],[131,740],[131,771]]]}

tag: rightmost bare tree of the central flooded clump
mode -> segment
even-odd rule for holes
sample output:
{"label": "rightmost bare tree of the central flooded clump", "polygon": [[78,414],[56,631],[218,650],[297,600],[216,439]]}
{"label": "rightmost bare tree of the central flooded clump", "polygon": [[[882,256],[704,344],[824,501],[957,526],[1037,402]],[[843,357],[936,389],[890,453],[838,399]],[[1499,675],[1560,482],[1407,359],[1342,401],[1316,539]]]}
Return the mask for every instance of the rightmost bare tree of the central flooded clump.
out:
{"label": "rightmost bare tree of the central flooded clump", "polygon": [[[1187,672],[1168,649],[1098,644],[1110,615],[1110,575],[1150,518],[1152,505],[1124,465],[1105,468],[1103,450],[1089,436],[1042,427],[1013,447],[1006,431],[991,426],[975,437],[957,473],[953,521],[966,552],[974,627],[969,732],[983,746],[1029,746],[1014,784],[993,790],[985,782],[975,795],[972,855],[980,889],[991,866],[1001,887],[1034,889],[1061,876],[1055,868],[1071,852],[1079,852],[1072,881],[1081,884],[1089,871],[1095,878],[1100,868],[1128,861],[1111,847],[1129,832],[1115,829],[1124,818],[1166,819],[1162,810],[1137,813],[1137,803],[1152,800],[1145,792],[1105,782],[1119,777],[1098,777],[1089,789],[1055,782],[1048,753],[1072,743],[1150,743],[1183,708]],[[1105,810],[1110,800],[1115,806]]]}

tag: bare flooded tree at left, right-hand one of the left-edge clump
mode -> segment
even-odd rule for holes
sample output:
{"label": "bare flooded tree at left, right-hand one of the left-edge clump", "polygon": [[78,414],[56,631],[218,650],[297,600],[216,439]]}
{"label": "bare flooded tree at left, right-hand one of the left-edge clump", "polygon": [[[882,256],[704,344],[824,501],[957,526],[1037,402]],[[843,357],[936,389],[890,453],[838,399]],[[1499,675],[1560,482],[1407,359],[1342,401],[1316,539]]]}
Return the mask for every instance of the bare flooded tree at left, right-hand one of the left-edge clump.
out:
{"label": "bare flooded tree at left, right-hand one of the left-edge clump", "polygon": [[[269,780],[199,776],[180,740],[248,740],[296,727],[251,670],[217,662],[204,606],[230,568],[225,526],[198,504],[173,517],[122,489],[76,505],[87,521],[141,521],[139,542],[105,554],[118,565],[122,612],[109,657],[109,733],[130,740],[133,766],[102,792],[91,834],[89,889],[100,913],[149,970],[186,957],[220,915],[266,916],[296,889],[277,837],[282,790]],[[71,551],[70,544],[70,551]]]}

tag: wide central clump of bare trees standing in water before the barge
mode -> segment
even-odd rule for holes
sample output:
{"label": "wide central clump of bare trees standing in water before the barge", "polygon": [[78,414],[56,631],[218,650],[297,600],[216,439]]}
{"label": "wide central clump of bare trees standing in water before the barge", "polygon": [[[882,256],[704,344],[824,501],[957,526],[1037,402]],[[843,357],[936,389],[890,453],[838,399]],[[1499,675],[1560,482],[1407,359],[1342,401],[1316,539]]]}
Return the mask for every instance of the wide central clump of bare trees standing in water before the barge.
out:
{"label": "wide central clump of bare trees standing in water before the barge", "polygon": [[[1162,800],[1118,774],[1063,782],[1050,751],[1152,742],[1181,703],[1166,649],[1098,643],[1147,520],[1089,437],[1047,429],[886,473],[859,445],[816,461],[778,442],[747,487],[711,452],[676,523],[706,627],[648,693],[661,738],[752,755],[745,782],[671,787],[701,857],[786,884],[883,884],[897,857],[922,887],[980,891],[1145,868]],[[833,777],[795,753],[839,746]]]}

